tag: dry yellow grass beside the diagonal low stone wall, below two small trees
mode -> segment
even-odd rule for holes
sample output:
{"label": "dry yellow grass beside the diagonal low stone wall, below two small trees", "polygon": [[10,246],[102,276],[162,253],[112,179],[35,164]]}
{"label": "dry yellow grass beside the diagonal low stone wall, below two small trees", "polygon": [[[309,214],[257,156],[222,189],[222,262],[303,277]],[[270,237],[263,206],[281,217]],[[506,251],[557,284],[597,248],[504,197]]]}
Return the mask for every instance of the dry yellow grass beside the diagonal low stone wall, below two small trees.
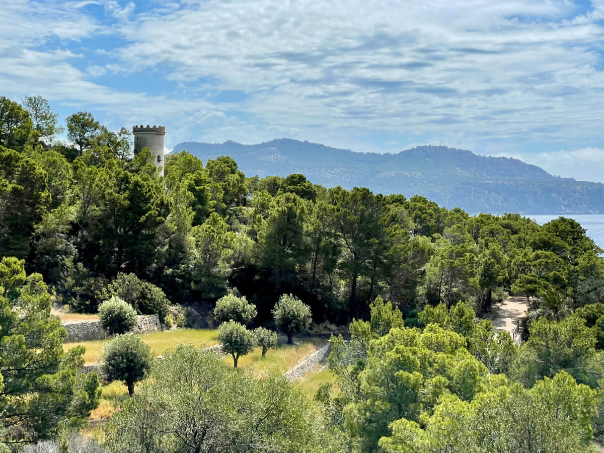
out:
{"label": "dry yellow grass beside the diagonal low stone wall, below two small trees", "polygon": [[[271,373],[283,374],[324,343],[323,339],[310,338],[301,340],[293,346],[280,344],[277,349],[269,349],[264,357],[262,357],[262,348],[256,347],[248,355],[239,358],[237,368],[251,370],[252,374],[259,378]],[[224,359],[226,363],[233,365],[233,357],[228,355]]]}

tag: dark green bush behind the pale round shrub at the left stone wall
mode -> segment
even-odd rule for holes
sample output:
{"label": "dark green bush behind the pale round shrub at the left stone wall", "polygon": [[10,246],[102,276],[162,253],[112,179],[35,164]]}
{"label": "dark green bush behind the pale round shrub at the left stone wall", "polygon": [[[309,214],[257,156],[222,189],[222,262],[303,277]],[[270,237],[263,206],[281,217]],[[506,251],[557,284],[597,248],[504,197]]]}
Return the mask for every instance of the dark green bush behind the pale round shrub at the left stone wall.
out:
{"label": "dark green bush behind the pale round shrub at the left stone wall", "polygon": [[127,303],[141,315],[154,315],[157,313],[159,321],[165,322],[168,315],[170,301],[158,286],[148,281],[141,280],[135,274],[124,274],[120,272],[98,297],[108,299],[117,296]]}

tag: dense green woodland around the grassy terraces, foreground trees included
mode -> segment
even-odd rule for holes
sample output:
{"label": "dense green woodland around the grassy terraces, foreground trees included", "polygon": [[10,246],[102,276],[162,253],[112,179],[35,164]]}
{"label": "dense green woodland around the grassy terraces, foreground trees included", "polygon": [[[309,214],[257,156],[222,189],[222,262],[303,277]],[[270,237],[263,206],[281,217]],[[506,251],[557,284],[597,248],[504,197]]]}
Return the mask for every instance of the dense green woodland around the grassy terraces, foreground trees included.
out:
{"label": "dense green woodland around the grassy terraces, foreground trees included", "polygon": [[[604,260],[574,220],[246,176],[228,156],[175,153],[159,177],[126,129],[88,112],[66,118],[68,143],[57,132],[43,98],[0,98],[7,448],[78,429],[98,404],[51,301],[96,313],[120,292],[162,322],[170,304],[245,296],[254,327],[291,294],[350,335],[331,340],[338,391],[314,401],[178,347],[110,423],[110,451],[568,453],[604,438]],[[522,345],[477,318],[512,293],[530,306]],[[222,428],[204,431],[210,419]]]}

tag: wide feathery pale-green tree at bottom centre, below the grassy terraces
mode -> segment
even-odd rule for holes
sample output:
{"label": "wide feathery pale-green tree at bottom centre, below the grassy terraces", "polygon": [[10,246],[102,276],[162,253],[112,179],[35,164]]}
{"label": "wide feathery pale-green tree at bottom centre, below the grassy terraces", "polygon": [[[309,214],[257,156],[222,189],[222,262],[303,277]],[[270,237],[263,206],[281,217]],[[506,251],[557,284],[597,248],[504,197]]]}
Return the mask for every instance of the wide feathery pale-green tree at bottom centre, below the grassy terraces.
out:
{"label": "wide feathery pale-green tree at bottom centre, below the grassy terraces", "polygon": [[106,436],[109,451],[124,453],[344,452],[315,406],[283,377],[256,381],[185,345],[155,364]]}

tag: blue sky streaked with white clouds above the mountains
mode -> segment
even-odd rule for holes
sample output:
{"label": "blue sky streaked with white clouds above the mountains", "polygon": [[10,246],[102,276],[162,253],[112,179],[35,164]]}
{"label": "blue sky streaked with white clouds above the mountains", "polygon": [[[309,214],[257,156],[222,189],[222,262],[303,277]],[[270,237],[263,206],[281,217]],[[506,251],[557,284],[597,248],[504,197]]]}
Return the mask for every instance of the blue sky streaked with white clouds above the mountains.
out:
{"label": "blue sky streaked with white clouds above the mountains", "polygon": [[0,1],[0,95],[165,144],[444,144],[604,181],[604,0]]}

